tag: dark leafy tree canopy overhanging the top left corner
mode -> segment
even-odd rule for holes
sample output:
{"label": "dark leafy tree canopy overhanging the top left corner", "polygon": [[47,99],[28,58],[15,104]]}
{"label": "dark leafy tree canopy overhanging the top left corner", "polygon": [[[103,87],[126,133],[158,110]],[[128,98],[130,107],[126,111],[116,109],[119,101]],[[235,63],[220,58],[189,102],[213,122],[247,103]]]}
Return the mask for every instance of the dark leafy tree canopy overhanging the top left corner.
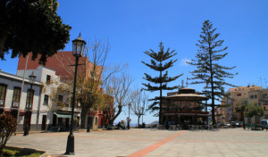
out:
{"label": "dark leafy tree canopy overhanging the top left corner", "polygon": [[39,62],[63,49],[70,40],[71,27],[63,24],[56,10],[56,0],[0,1],[0,58],[12,52],[18,55],[41,55]]}

